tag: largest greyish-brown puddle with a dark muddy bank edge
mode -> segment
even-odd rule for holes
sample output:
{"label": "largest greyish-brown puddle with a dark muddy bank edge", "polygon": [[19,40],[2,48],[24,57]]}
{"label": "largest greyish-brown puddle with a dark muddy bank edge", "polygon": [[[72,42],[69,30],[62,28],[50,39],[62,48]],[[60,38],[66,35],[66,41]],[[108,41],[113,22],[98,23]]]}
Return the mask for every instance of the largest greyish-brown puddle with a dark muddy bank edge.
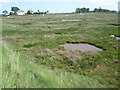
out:
{"label": "largest greyish-brown puddle with a dark muddy bank edge", "polygon": [[71,51],[105,51],[105,49],[88,43],[66,43],[62,46],[64,49]]}

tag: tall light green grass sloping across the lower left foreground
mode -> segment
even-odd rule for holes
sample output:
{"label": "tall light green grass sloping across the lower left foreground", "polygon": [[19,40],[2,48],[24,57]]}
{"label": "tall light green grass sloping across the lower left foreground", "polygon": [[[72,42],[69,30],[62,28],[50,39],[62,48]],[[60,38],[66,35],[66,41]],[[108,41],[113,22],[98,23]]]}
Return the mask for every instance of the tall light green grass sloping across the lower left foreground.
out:
{"label": "tall light green grass sloping across the lower left foreground", "polygon": [[105,88],[87,76],[30,63],[5,44],[2,49],[2,88]]}

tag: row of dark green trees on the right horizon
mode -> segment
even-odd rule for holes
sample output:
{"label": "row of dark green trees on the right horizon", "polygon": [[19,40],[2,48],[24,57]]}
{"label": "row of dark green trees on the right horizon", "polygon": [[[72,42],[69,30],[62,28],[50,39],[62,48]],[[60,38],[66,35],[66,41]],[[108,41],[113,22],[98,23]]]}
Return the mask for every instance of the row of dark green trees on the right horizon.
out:
{"label": "row of dark green trees on the right horizon", "polygon": [[84,13],[84,12],[116,12],[116,11],[112,11],[112,10],[108,10],[108,9],[102,9],[101,7],[99,8],[95,8],[93,11],[90,11],[89,8],[76,8],[75,13]]}

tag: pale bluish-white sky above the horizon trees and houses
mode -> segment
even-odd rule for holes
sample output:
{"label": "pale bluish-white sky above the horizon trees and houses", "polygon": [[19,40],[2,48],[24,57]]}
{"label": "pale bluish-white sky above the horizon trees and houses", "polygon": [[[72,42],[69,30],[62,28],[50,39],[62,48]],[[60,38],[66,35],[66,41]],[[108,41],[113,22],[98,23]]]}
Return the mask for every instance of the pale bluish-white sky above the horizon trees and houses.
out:
{"label": "pale bluish-white sky above the horizon trees and houses", "polygon": [[10,12],[12,6],[17,6],[21,10],[27,12],[32,9],[33,11],[40,10],[50,13],[64,13],[75,12],[76,8],[104,8],[118,11],[118,2],[120,0],[0,0],[0,13],[3,10]]}

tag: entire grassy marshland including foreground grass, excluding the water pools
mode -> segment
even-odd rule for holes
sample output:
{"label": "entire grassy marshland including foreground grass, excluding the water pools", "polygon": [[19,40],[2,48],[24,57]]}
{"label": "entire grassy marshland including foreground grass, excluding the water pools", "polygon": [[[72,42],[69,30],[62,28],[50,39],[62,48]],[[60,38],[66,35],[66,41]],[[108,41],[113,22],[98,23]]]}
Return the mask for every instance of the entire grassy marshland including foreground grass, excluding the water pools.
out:
{"label": "entire grassy marshland including foreground grass, excluding the water pools", "polygon": [[[62,22],[59,19],[80,19]],[[118,87],[117,14],[2,17],[2,87]],[[64,50],[87,42],[103,52]]]}

